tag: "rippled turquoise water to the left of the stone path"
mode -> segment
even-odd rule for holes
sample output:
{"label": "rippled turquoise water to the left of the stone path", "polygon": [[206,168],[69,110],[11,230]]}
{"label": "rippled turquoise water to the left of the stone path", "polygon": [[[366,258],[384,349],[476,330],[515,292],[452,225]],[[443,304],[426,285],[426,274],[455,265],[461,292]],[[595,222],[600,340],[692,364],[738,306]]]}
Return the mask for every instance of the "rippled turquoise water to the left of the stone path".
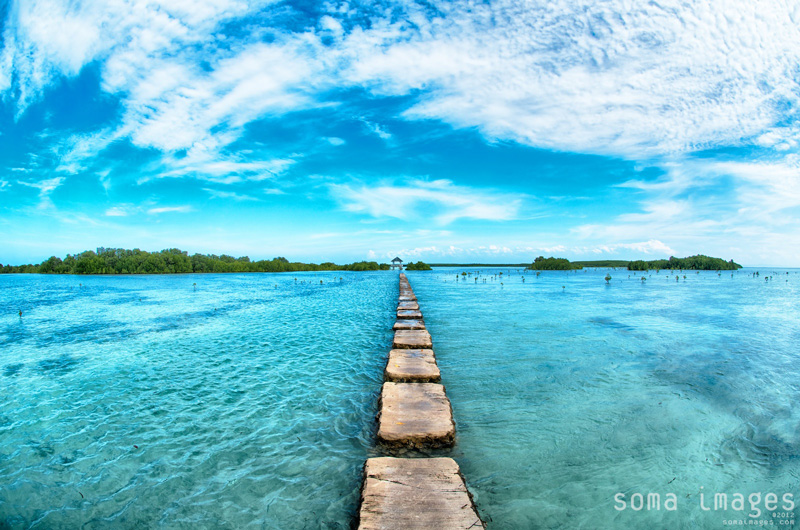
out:
{"label": "rippled turquoise water to the left of the stone path", "polygon": [[396,274],[0,289],[0,528],[349,528]]}

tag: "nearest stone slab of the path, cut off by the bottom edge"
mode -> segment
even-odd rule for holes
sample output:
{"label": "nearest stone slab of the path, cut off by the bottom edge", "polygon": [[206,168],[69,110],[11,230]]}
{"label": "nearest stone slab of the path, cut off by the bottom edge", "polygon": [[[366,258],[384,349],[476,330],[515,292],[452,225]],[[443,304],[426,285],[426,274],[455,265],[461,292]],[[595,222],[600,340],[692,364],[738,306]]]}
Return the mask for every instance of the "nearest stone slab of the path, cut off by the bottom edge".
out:
{"label": "nearest stone slab of the path, cut off by the bottom edge", "polygon": [[359,530],[485,528],[452,458],[370,458]]}

